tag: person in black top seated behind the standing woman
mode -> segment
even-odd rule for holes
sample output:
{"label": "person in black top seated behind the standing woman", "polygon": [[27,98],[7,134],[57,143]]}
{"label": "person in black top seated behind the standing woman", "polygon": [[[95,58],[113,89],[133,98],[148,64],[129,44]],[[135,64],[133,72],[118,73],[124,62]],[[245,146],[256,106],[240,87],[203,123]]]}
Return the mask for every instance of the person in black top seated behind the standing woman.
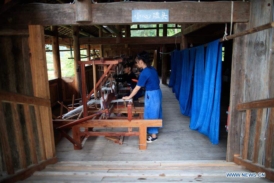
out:
{"label": "person in black top seated behind the standing woman", "polygon": [[[128,86],[133,90],[136,86],[136,82],[132,81],[132,79],[137,79],[136,75],[132,72],[132,66],[134,63],[126,63],[125,64],[125,74],[119,74],[116,76],[116,81],[119,83],[127,82]],[[137,100],[139,97],[141,97],[143,94],[142,88],[137,92],[137,94],[134,96],[134,100]],[[130,92],[124,96],[129,96]]]}

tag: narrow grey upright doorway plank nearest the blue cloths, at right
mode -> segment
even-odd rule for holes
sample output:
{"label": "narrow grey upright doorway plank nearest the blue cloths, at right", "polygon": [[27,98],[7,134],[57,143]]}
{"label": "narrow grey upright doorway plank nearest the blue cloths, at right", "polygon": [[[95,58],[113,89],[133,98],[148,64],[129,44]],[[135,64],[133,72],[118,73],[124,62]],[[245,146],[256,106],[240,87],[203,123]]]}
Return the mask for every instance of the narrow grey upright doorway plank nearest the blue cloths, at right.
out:
{"label": "narrow grey upright doorway plank nearest the blue cloths, at right", "polygon": [[[247,23],[235,23],[234,33],[246,30]],[[234,154],[240,154],[241,139],[244,138],[245,121],[241,119],[242,112],[237,110],[237,104],[243,102],[244,95],[244,62],[246,52],[241,51],[241,47],[247,47],[247,36],[235,38],[233,40],[232,68],[231,68],[231,87],[230,87],[230,113],[229,131],[227,139],[227,161],[234,160]]]}

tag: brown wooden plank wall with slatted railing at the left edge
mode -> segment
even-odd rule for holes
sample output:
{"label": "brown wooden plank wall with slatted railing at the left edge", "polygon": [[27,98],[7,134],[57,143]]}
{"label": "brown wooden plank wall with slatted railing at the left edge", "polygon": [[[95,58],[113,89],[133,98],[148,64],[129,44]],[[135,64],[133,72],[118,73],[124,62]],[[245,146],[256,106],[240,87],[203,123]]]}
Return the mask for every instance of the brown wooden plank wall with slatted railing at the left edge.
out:
{"label": "brown wooden plank wall with slatted railing at the left edge", "polygon": [[[44,95],[46,88],[49,91],[48,83],[45,88],[33,84],[44,82],[37,74],[46,75],[46,61],[38,62],[36,54],[30,52],[29,39],[28,35],[0,36],[0,171],[15,174],[17,178],[27,176],[24,170],[31,173],[35,165],[39,167],[52,158],[51,163],[57,161],[49,92],[48,97]],[[35,42],[39,43],[37,38]],[[33,68],[37,71],[33,72]]]}

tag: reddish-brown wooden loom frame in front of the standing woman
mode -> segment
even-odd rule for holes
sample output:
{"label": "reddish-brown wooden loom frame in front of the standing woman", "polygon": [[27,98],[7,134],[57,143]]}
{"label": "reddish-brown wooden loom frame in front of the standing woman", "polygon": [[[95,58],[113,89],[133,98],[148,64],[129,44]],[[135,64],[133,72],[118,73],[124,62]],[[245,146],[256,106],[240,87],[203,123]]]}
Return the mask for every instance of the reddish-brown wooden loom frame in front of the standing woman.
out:
{"label": "reddish-brown wooden loom frame in front of the standing woman", "polygon": [[[106,99],[102,97],[104,109],[98,110],[97,108],[87,106],[87,102],[93,93],[97,93],[97,91],[99,91],[102,94],[100,83],[104,84],[107,81],[108,77],[110,77],[111,75],[111,72],[114,72],[111,69],[114,69],[115,66],[120,62],[122,62],[122,59],[113,58],[100,58],[100,60],[96,59],[91,61],[78,61],[78,64],[81,66],[83,118],[80,118],[82,115],[80,114],[76,120],[62,120],[61,114],[60,119],[56,119],[55,117],[55,120],[53,120],[53,126],[56,127],[65,138],[72,142],[72,144],[74,145],[74,149],[82,149],[82,142],[85,138],[88,138],[89,136],[99,135],[122,136],[120,140],[116,140],[116,142],[119,142],[120,144],[123,143],[122,141],[124,135],[138,135],[139,149],[146,149],[146,128],[162,126],[161,119],[143,119],[144,107],[134,107],[134,104],[132,102],[126,102],[126,106],[119,106],[116,105],[117,103],[111,103],[111,101],[115,99],[115,95],[113,92],[109,93]],[[100,77],[99,81],[96,83],[95,87],[88,95],[86,93],[86,64],[93,64],[94,71],[96,64],[104,65],[104,74]],[[96,82],[96,78],[94,78],[94,80]],[[97,97],[97,95],[94,96],[95,98]],[[102,94],[102,96],[104,95]],[[62,105],[63,104],[61,103],[61,106]],[[69,109],[68,107],[66,108]],[[111,117],[111,113],[127,113],[128,117]],[[134,113],[139,114],[139,117],[133,117],[132,114]],[[80,127],[85,128],[85,131],[80,131]],[[93,131],[93,127],[127,127],[128,131]],[[132,131],[132,127],[139,127],[139,131]],[[65,132],[65,129],[68,128],[72,128],[72,137]]]}

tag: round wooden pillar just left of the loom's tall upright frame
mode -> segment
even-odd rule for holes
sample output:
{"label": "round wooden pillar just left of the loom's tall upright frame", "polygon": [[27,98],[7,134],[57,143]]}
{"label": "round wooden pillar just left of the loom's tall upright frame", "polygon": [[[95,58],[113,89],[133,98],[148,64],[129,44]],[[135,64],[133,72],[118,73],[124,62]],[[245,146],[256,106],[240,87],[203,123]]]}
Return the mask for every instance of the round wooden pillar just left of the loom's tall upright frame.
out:
{"label": "round wooden pillar just left of the loom's tall upright frame", "polygon": [[79,73],[79,66],[77,61],[81,60],[80,57],[80,45],[79,45],[79,26],[73,25],[72,26],[72,33],[73,33],[73,54],[74,54],[74,74],[75,74],[75,90],[76,94],[79,96],[80,93],[80,73]]}

